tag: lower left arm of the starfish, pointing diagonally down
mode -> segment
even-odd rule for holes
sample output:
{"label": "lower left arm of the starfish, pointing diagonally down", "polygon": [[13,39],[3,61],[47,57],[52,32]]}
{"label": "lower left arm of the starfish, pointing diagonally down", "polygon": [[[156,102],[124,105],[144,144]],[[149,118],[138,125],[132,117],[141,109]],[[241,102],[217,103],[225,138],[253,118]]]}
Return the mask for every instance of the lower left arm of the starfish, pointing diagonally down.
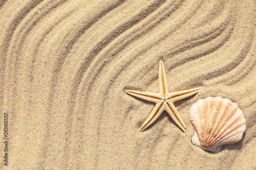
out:
{"label": "lower left arm of the starfish, pointing diagonally down", "polygon": [[154,107],[150,116],[147,117],[147,119],[145,120],[145,122],[141,126],[140,131],[145,130],[147,127],[149,127],[151,124],[153,124],[156,121],[156,119],[162,114],[163,110],[164,109],[163,109],[163,103],[162,102],[156,104],[156,106]]}

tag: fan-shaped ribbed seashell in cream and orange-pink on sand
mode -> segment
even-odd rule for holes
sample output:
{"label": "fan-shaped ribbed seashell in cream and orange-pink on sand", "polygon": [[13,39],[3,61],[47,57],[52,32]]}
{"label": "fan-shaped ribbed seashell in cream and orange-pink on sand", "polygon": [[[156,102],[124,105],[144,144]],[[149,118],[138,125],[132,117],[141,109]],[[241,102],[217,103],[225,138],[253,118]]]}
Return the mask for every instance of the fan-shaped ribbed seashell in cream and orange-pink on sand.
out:
{"label": "fan-shaped ribbed seashell in cream and orange-pink on sand", "polygon": [[245,118],[236,103],[228,99],[199,99],[190,108],[196,132],[192,143],[210,152],[220,152],[223,144],[236,143],[245,131]]}

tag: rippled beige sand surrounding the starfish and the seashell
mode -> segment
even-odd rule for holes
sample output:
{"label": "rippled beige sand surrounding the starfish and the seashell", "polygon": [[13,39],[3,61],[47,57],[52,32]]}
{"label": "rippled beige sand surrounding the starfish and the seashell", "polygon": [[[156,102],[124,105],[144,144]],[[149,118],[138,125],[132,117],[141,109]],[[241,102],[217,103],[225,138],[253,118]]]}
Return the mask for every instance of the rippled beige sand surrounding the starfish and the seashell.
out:
{"label": "rippled beige sand surrounding the starfish and the seashell", "polygon": [[[255,169],[255,1],[0,1],[1,169]],[[202,87],[139,128],[155,104],[126,89]],[[241,141],[191,143],[200,98],[236,102]],[[4,165],[8,113],[8,166]]]}

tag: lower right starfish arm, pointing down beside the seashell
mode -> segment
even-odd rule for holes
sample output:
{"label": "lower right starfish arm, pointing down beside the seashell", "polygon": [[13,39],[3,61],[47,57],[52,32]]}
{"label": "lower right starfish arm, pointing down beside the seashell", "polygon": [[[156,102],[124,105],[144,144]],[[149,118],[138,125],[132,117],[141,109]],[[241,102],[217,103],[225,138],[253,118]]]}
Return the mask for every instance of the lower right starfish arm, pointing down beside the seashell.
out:
{"label": "lower right starfish arm, pointing down beside the seashell", "polygon": [[174,122],[180,127],[180,129],[183,130],[183,132],[186,132],[186,125],[184,124],[183,120],[181,119],[180,114],[178,113],[176,107],[172,102],[166,101],[166,111],[169,113],[170,117],[174,120]]}

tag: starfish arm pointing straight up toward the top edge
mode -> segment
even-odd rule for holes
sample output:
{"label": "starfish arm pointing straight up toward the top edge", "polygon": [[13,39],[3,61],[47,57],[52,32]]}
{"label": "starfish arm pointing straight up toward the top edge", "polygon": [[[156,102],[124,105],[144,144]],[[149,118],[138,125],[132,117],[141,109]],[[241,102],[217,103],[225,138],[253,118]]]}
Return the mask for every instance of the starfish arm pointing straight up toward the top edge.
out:
{"label": "starfish arm pointing straight up toward the top edge", "polygon": [[168,82],[165,75],[163,60],[159,63],[159,93],[164,97],[169,93]]}

